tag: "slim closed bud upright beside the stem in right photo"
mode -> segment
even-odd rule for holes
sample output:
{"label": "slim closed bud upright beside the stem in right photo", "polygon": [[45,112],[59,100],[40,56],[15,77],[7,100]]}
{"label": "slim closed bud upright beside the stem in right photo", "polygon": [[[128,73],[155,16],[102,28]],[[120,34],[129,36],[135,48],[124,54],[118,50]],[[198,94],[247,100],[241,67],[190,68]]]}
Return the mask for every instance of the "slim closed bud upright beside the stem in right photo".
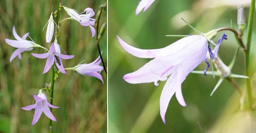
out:
{"label": "slim closed bud upright beside the stem in right photo", "polygon": [[237,9],[237,25],[239,28],[239,34],[243,34],[243,30],[245,28],[245,11],[243,10],[243,5],[238,5]]}

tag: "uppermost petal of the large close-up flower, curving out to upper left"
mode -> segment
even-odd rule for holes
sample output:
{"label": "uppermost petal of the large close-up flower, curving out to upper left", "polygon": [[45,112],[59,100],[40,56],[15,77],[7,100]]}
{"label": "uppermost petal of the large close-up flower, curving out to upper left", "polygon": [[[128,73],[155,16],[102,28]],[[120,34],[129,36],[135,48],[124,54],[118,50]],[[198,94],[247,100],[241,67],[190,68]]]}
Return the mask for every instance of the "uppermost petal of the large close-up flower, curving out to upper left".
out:
{"label": "uppermost petal of the large close-up flower, curving out to upper left", "polygon": [[121,46],[126,50],[128,53],[132,54],[133,56],[139,57],[139,58],[155,58],[155,54],[160,52],[163,49],[138,49],[135,47],[132,47],[131,45],[124,42],[119,36],[117,36],[117,39]]}

